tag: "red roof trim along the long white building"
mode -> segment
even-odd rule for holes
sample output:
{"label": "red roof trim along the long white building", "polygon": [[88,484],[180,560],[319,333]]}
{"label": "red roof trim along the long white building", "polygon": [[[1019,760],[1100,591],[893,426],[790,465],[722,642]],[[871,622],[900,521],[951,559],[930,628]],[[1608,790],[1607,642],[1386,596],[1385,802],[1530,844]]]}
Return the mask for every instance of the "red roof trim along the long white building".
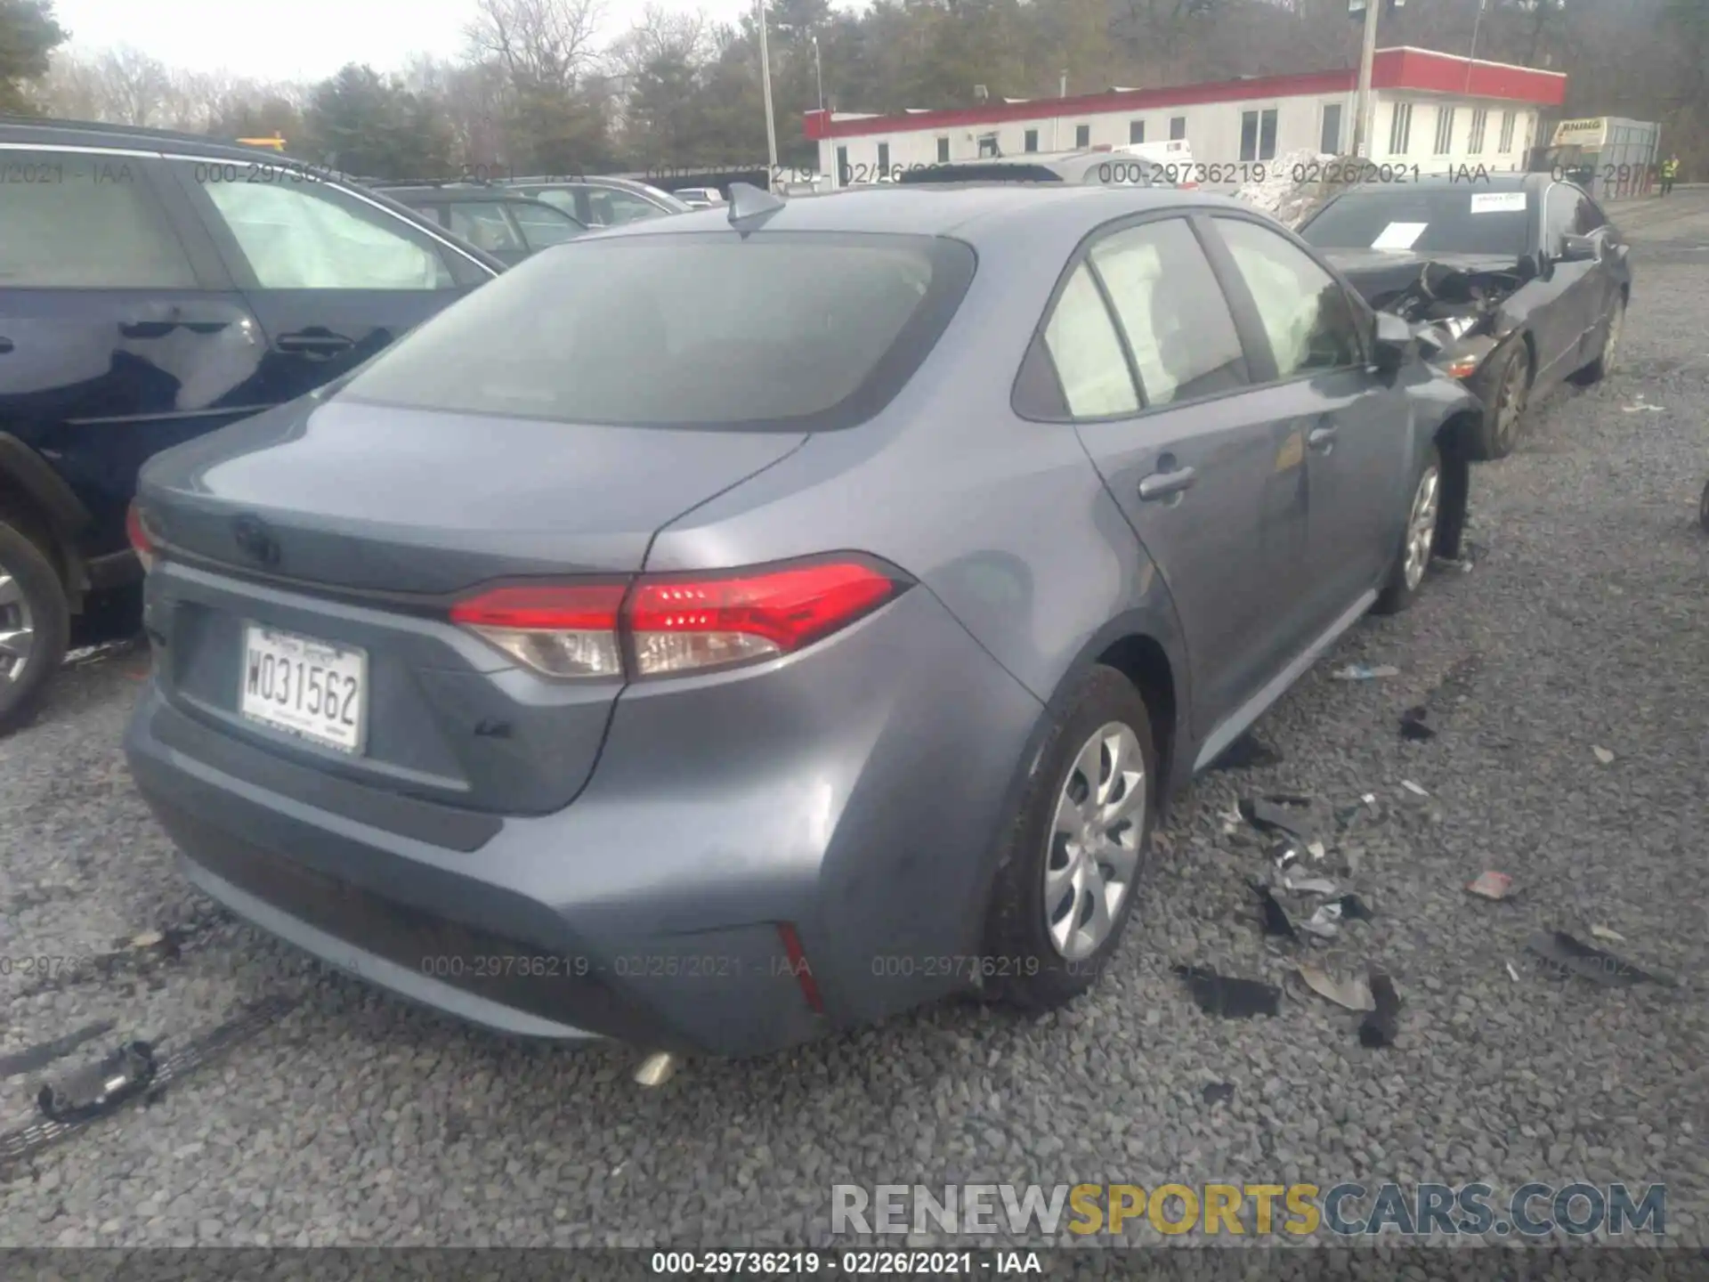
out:
{"label": "red roof trim along the long white building", "polygon": [[[1468,67],[1470,79],[1466,75]],[[1506,97],[1536,106],[1560,106],[1567,96],[1567,77],[1559,72],[1538,72],[1530,67],[1511,67],[1494,62],[1473,63],[1451,53],[1432,53],[1430,50],[1413,48],[1377,50],[1376,63],[1371,68],[1371,84],[1376,89],[1417,89],[1434,94]],[[1343,94],[1357,87],[1357,72],[1347,68],[1340,72],[1261,75],[1246,80],[1171,85],[1167,89],[1080,94],[1078,97],[1042,97],[1029,103],[991,103],[978,108],[918,111],[901,116],[863,116],[860,120],[831,120],[829,113],[808,111],[802,121],[802,132],[813,140],[853,138],[872,133],[1003,125],[1017,120],[1054,120],[1060,116],[1090,116],[1114,111],[1157,111],[1160,108],[1196,106],[1201,103]]]}

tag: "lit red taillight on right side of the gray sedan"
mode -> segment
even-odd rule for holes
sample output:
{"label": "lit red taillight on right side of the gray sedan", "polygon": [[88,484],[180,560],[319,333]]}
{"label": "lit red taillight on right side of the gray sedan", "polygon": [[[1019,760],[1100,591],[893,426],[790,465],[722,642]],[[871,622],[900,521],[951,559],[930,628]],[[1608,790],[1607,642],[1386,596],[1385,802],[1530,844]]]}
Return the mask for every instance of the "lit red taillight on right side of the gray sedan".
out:
{"label": "lit red taillight on right side of the gray sedan", "polygon": [[494,588],[451,609],[550,677],[704,672],[788,655],[890,600],[902,585],[861,561],[620,585]]}

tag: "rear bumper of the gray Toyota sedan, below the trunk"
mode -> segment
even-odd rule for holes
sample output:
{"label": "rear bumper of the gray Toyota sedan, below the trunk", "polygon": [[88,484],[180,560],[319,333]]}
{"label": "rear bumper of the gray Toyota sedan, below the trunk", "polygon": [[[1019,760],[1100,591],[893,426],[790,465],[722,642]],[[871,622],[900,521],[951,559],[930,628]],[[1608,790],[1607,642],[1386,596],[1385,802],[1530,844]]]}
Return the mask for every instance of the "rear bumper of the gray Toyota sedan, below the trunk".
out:
{"label": "rear bumper of the gray Toyota sedan, below the trunk", "polygon": [[583,795],[473,850],[268,786],[152,682],[126,752],[190,879],[323,961],[504,1032],[740,1056],[969,983],[1039,713],[916,588],[779,665],[632,687]]}

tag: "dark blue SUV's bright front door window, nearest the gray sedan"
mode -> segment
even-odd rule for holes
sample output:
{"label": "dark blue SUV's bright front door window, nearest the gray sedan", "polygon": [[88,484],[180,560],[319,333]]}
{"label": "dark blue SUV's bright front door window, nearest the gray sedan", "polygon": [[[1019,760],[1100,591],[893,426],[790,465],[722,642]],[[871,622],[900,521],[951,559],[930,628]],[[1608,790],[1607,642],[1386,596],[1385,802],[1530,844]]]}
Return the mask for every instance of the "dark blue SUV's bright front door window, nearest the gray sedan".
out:
{"label": "dark blue SUV's bright front door window, nearest the gray sedan", "polygon": [[176,164],[207,193],[260,289],[456,287],[424,232],[330,183],[227,183],[214,181],[217,164]]}

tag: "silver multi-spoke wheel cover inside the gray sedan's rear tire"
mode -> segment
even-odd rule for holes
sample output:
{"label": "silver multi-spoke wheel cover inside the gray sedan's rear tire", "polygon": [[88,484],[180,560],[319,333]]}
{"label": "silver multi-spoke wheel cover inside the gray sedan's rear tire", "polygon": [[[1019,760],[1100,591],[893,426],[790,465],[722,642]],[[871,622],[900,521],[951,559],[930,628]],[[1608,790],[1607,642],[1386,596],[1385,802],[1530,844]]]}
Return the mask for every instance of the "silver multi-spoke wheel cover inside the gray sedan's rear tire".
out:
{"label": "silver multi-spoke wheel cover inside the gray sedan's rear tire", "polygon": [[1044,928],[1066,961],[1102,947],[1133,889],[1145,832],[1145,754],[1109,721],[1075,754],[1044,858]]}

